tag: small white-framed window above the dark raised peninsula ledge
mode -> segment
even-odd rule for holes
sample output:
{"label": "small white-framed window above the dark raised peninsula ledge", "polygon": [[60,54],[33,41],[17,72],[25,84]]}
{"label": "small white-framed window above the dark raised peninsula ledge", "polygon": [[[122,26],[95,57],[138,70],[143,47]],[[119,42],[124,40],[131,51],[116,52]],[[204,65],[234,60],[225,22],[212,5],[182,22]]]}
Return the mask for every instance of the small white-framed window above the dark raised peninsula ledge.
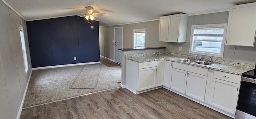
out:
{"label": "small white-framed window above the dark raised peninsula ledge", "polygon": [[133,29],[134,48],[145,47],[146,29]]}

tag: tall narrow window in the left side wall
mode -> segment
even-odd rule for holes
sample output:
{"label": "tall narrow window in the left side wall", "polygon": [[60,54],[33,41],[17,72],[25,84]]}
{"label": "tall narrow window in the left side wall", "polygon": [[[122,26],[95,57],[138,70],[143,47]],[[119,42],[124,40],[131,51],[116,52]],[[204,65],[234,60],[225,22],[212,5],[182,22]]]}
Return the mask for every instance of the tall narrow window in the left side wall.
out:
{"label": "tall narrow window in the left side wall", "polygon": [[27,59],[26,43],[25,43],[23,26],[19,25],[19,29],[20,29],[20,40],[21,40],[21,45],[22,45],[22,55],[23,55],[23,60],[24,60],[25,73],[27,74],[27,72],[28,72],[28,59]]}

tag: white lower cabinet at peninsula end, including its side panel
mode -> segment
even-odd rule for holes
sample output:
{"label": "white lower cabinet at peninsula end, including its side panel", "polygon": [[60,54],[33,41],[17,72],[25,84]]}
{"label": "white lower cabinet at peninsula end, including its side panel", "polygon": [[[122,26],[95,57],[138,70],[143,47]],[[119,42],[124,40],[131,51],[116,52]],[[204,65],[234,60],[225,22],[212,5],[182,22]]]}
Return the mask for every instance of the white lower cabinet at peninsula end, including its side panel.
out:
{"label": "white lower cabinet at peninsula end, including its side panel", "polygon": [[164,60],[138,63],[126,59],[126,88],[134,94],[163,86],[163,80]]}

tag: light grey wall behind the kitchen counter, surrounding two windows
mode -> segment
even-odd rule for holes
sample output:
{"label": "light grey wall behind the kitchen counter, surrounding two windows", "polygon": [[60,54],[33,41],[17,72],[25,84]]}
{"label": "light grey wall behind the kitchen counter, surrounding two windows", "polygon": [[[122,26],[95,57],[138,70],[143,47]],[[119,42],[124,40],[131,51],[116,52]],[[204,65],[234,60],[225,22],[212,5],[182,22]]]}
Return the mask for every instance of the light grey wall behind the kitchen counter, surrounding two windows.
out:
{"label": "light grey wall behind the kitchen counter, surrounding two windows", "polygon": [[[165,49],[166,52],[178,53],[184,55],[195,55],[189,53],[190,46],[190,33],[192,25],[201,25],[201,24],[216,24],[216,23],[228,23],[228,12],[218,12],[212,14],[202,14],[196,16],[188,16],[188,27],[187,27],[187,37],[186,43],[167,43],[167,42],[159,42],[158,34],[159,34],[159,20],[156,21],[147,21],[142,23],[132,23],[127,25],[118,25],[123,26],[123,37],[124,37],[124,48],[132,48],[133,47],[133,29],[146,28],[146,47],[167,47]],[[100,41],[107,41],[108,44],[105,44],[106,47],[113,47],[114,44],[111,40],[114,39],[114,27],[118,26],[106,26],[101,27],[104,28],[104,35],[108,35],[108,39],[100,39]],[[110,30],[110,31],[109,31]],[[100,34],[102,34],[100,32]],[[106,37],[105,37],[106,38]],[[108,45],[108,46],[106,46]],[[256,44],[255,44],[256,46]],[[179,47],[182,47],[182,51],[179,51]],[[100,47],[102,49],[102,47]],[[105,51],[105,57],[114,60],[114,49],[107,49]],[[203,56],[208,57],[208,56]],[[227,61],[234,62],[242,62],[255,64],[256,62],[256,47],[242,47],[242,46],[232,46],[225,45],[223,58],[212,57],[213,59],[221,59]]]}

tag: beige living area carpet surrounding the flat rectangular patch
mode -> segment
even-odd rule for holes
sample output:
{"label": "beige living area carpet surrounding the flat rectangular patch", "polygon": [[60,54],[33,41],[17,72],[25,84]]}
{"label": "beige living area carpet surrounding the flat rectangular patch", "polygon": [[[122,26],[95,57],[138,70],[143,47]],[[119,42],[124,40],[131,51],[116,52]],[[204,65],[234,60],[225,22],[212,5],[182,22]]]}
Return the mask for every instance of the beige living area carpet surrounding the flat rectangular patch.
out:
{"label": "beige living area carpet surrounding the flat rectangular patch", "polygon": [[[120,87],[121,66],[107,67],[103,64],[94,64],[94,66],[101,65],[103,67],[99,71],[92,68],[93,64],[88,65],[90,66],[79,65],[33,70],[23,107]],[[89,67],[92,69],[89,69]],[[85,70],[83,71],[84,68]],[[83,74],[86,73],[86,71],[90,71],[90,73],[87,73],[88,75],[90,74],[90,76]],[[95,88],[71,88],[77,78],[93,77],[97,73],[98,82]]]}

